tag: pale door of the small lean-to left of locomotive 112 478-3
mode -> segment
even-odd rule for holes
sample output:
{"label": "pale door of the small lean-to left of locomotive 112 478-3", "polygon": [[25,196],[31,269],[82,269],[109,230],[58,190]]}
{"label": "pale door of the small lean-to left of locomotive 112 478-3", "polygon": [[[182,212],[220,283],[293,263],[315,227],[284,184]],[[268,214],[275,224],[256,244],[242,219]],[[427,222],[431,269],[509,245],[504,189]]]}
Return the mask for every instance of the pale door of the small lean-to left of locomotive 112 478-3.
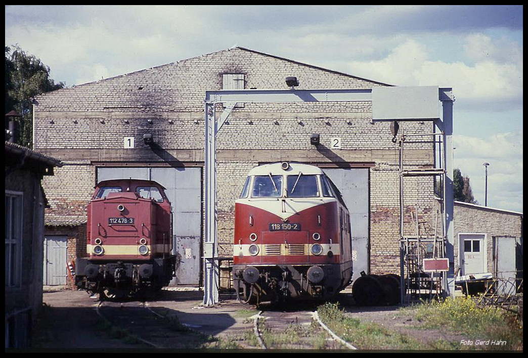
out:
{"label": "pale door of the small lean-to left of locomotive 112 478-3", "polygon": [[68,276],[68,237],[44,237],[43,285],[65,285]]}

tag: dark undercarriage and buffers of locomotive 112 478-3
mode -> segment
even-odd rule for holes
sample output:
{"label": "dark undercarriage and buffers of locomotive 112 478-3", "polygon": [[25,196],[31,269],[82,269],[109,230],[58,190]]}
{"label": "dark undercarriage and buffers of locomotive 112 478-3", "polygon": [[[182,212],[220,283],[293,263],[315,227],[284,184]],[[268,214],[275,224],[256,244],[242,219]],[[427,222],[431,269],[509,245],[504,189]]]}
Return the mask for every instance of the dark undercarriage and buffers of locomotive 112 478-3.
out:
{"label": "dark undercarriage and buffers of locomotive 112 478-3", "polygon": [[103,298],[152,296],[174,277],[176,258],[147,262],[76,260],[76,285]]}

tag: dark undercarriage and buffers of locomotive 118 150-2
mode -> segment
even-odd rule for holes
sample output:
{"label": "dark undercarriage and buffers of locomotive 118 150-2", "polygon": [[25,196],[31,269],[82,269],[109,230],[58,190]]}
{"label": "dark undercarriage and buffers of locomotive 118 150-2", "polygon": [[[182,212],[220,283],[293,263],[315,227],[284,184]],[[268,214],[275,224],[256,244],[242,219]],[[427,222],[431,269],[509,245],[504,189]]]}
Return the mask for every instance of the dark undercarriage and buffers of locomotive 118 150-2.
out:
{"label": "dark undercarriage and buffers of locomotive 118 150-2", "polygon": [[348,284],[341,265],[234,265],[233,284],[244,303],[325,300]]}

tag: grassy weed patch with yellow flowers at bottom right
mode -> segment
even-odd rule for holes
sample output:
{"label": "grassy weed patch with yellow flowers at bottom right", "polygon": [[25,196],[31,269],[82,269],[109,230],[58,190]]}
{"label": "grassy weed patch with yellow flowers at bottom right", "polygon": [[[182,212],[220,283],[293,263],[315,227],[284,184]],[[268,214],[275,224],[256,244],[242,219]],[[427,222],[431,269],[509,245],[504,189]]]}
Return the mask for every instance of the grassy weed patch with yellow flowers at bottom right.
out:
{"label": "grassy weed patch with yellow flowers at bottom right", "polygon": [[[468,340],[489,341],[477,347],[489,350],[522,350],[523,323],[503,309],[480,308],[471,297],[448,297],[443,302],[431,302],[403,308],[422,323],[423,328],[447,329],[464,334]],[[499,341],[501,344],[491,344]],[[502,342],[505,342],[502,344]],[[460,342],[458,342],[460,344]]]}

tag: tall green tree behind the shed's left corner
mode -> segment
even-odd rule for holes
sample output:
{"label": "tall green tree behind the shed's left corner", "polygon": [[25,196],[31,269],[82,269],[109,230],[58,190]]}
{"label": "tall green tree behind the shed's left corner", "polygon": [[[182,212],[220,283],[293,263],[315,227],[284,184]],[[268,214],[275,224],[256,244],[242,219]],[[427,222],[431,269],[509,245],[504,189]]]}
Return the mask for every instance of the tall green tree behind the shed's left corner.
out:
{"label": "tall green tree behind the shed's left corner", "polygon": [[18,45],[5,47],[5,112],[15,110],[18,135],[16,143],[31,147],[33,143],[33,97],[64,88],[64,82],[50,78],[50,68]]}

